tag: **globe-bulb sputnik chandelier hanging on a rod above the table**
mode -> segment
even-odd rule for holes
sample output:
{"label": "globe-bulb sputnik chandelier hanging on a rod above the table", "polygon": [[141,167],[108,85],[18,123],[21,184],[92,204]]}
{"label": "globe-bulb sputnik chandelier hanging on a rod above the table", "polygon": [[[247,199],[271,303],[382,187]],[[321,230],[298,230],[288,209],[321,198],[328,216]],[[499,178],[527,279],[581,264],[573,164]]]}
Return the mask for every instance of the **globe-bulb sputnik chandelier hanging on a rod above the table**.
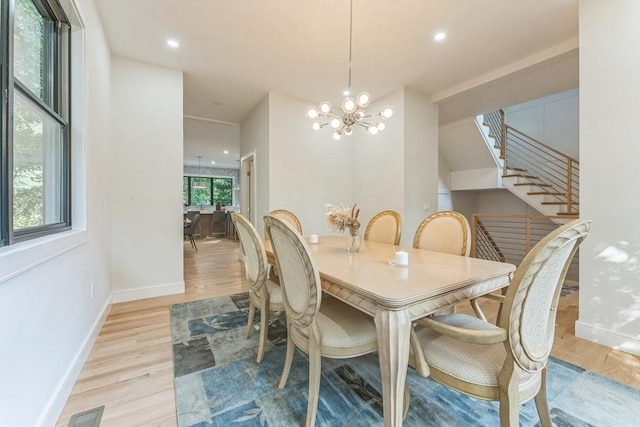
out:
{"label": "globe-bulb sputnik chandelier hanging on a rod above the table", "polygon": [[360,126],[370,135],[376,135],[384,130],[384,121],[376,122],[377,118],[386,120],[393,116],[393,108],[385,107],[378,114],[366,114],[364,108],[369,106],[370,97],[367,92],[360,93],[356,98],[351,96],[351,40],[353,38],[353,0],[349,9],[349,86],[344,91],[346,98],[342,101],[342,111],[335,110],[327,101],[317,107],[307,108],[307,118],[315,120],[311,126],[319,130],[326,125],[333,128],[333,139],[338,140],[342,135],[351,135],[354,126]]}

